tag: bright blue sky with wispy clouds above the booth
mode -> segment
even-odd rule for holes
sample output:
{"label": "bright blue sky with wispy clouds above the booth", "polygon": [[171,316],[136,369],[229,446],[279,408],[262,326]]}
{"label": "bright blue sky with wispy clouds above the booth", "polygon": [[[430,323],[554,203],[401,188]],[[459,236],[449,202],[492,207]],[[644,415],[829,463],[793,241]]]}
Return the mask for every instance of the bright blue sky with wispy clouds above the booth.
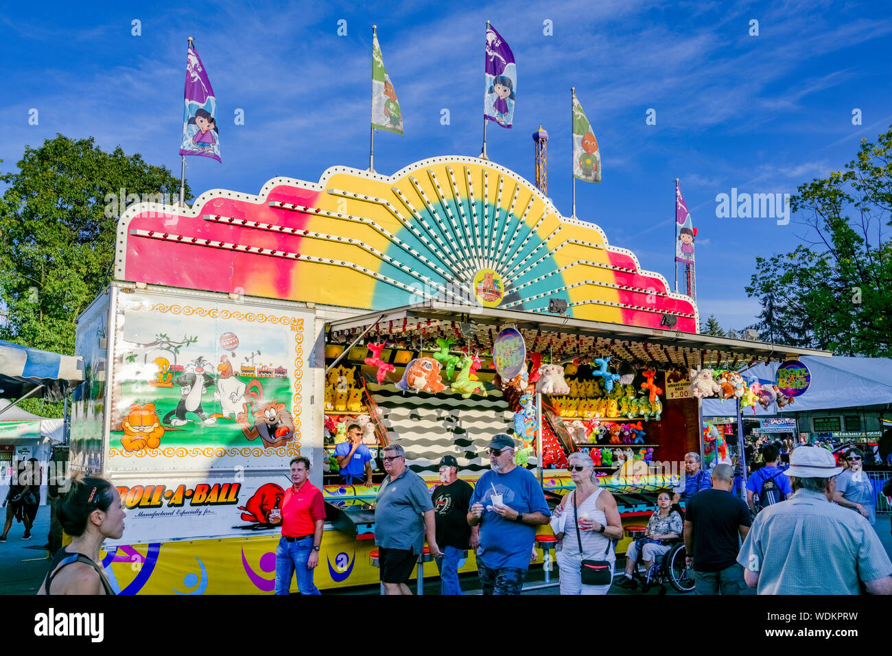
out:
{"label": "bright blue sky with wispy clouds above the booth", "polygon": [[[376,170],[476,155],[483,36],[492,21],[517,62],[515,128],[490,124],[492,160],[533,178],[533,130],[549,131],[549,195],[571,212],[570,87],[598,137],[603,182],[577,183],[598,223],[670,281],[674,179],[698,228],[698,307],[725,328],[759,310],[744,286],[757,255],[788,252],[797,217],[716,217],[717,194],[795,193],[892,123],[892,5],[664,3],[9,4],[0,15],[0,159],[61,132],[95,137],[179,172],[186,37],[219,103],[223,163],[186,159],[200,194],[256,193],[275,176],[316,180],[368,167],[371,25],[400,99],[405,137],[376,135]],[[132,36],[132,21],[141,36]],[[347,36],[337,35],[346,21]],[[750,36],[750,21],[758,36]],[[553,35],[546,36],[544,21]],[[29,109],[39,112],[29,125]],[[244,125],[234,112],[244,110]],[[442,109],[450,124],[441,124]],[[657,124],[646,124],[649,108]],[[852,112],[862,112],[853,125]]]}

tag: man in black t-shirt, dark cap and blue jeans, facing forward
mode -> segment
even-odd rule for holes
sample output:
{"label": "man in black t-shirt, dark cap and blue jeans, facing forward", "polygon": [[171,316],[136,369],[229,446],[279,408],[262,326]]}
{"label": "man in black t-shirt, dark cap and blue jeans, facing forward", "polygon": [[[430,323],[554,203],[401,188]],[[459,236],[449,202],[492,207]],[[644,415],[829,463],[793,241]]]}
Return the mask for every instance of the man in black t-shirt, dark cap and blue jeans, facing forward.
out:
{"label": "man in black t-shirt, dark cap and blue jeans, facing forward", "polygon": [[480,544],[477,527],[467,525],[467,511],[474,490],[458,478],[458,461],[451,455],[440,460],[440,485],[434,488],[434,519],[437,526],[437,544],[442,558],[434,559],[440,569],[440,594],[461,594],[458,585],[458,562],[471,544]]}

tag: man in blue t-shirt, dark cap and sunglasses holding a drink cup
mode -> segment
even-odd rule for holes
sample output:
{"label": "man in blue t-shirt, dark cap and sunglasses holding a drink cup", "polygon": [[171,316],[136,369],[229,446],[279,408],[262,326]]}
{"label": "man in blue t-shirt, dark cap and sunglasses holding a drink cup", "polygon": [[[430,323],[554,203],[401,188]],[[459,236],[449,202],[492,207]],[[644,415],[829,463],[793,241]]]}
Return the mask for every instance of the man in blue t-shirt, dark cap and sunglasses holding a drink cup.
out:
{"label": "man in blue t-shirt, dark cap and sunglasses holding a drink cup", "polygon": [[480,527],[477,574],[483,594],[520,594],[536,527],[548,524],[551,515],[533,472],[516,466],[514,449],[510,436],[492,438],[491,470],[477,481],[467,513],[467,523]]}

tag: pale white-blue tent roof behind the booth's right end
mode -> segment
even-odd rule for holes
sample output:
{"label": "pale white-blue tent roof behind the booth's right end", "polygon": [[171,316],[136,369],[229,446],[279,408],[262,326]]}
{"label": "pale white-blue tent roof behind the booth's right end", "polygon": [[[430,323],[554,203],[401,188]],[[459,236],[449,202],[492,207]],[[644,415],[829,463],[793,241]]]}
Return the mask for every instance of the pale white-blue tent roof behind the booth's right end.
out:
{"label": "pale white-blue tent roof behind the booth's right end", "polygon": [[[805,394],[800,394],[793,403],[783,408],[772,404],[768,410],[763,410],[761,405],[756,405],[756,417],[892,403],[892,359],[846,356],[818,358],[806,355],[800,361],[808,367],[812,378]],[[741,370],[740,375],[746,379],[747,385],[756,380],[762,385],[773,385],[779,366],[777,362],[758,364],[751,369]],[[703,400],[704,417],[733,417],[736,414],[737,404],[733,398],[724,401]],[[745,417],[752,417],[752,408],[746,408],[743,414]]]}

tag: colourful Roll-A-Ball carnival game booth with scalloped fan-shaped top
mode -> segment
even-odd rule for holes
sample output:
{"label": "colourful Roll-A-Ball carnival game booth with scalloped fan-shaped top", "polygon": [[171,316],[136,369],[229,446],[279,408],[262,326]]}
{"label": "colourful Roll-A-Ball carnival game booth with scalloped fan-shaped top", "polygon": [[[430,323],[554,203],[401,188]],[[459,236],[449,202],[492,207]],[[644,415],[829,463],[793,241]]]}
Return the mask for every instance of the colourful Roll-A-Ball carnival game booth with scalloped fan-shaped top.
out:
{"label": "colourful Roll-A-Ball carnival game booth with scalloped fan-shaped top", "polygon": [[[769,345],[695,335],[696,305],[631,251],[561,216],[511,170],[470,157],[392,176],[334,167],[318,182],[272,179],[259,195],[212,190],[191,208],[137,204],[119,221],[114,278],[78,318],[87,375],[70,461],[110,477],[128,506],[125,535],[105,556],[127,594],[270,592],[278,530],[269,512],[298,454],[328,502],[317,585],[376,583],[376,486],[333,477],[346,418],[366,418],[373,448],[399,440],[425,477],[438,453],[458,453],[472,481],[484,440],[515,428],[543,486],[562,491],[566,453],[593,453],[587,443],[598,441],[573,422],[591,432],[601,399],[607,407],[618,388],[592,370],[612,376],[625,364],[632,378],[621,391],[648,395],[649,416],[622,418],[616,399],[616,416],[606,412],[640,420],[653,444],[624,446],[680,461],[698,450],[698,404],[657,392],[673,389],[665,371],[778,356]],[[504,328],[530,354],[528,384],[536,365],[576,367],[564,371],[576,396],[543,391],[534,412],[523,378],[512,382],[520,374],[497,381],[489,362]],[[595,361],[605,356],[606,366]],[[446,372],[438,385],[425,389],[435,381],[412,368],[419,360]],[[619,483],[617,493],[639,494],[666,481]],[[645,505],[637,501],[624,508]],[[433,574],[434,563],[425,569]]]}

